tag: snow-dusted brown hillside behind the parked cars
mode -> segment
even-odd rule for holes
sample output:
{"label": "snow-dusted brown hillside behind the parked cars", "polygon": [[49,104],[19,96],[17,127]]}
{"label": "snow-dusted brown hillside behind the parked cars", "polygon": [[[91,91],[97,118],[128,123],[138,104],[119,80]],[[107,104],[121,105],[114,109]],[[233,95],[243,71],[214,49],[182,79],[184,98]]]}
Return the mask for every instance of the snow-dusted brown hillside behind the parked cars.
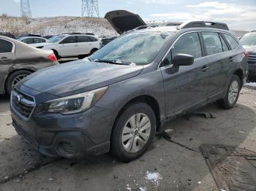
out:
{"label": "snow-dusted brown hillside behind the parked cars", "polygon": [[108,20],[98,17],[39,17],[26,20],[21,17],[0,17],[0,31],[15,35],[40,34],[57,35],[68,32],[116,35]]}

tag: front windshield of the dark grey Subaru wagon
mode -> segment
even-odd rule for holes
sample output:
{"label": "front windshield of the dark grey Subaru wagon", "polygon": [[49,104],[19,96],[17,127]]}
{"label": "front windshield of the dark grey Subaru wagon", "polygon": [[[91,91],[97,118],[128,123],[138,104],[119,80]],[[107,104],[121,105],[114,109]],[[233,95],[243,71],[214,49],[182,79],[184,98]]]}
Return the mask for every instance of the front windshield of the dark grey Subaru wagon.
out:
{"label": "front windshield of the dark grey Subaru wagon", "polygon": [[91,60],[119,61],[144,65],[154,61],[173,33],[144,32],[119,36],[91,55]]}

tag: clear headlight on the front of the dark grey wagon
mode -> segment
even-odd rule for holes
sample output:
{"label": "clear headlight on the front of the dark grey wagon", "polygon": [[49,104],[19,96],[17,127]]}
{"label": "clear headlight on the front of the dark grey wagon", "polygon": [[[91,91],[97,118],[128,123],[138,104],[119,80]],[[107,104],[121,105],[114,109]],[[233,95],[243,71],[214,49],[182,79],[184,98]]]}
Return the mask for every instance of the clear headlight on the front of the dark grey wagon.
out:
{"label": "clear headlight on the front of the dark grey wagon", "polygon": [[64,98],[58,98],[45,102],[42,106],[42,112],[74,114],[85,111],[96,104],[108,90],[108,87],[102,87],[97,90],[91,90],[86,93],[70,95]]}

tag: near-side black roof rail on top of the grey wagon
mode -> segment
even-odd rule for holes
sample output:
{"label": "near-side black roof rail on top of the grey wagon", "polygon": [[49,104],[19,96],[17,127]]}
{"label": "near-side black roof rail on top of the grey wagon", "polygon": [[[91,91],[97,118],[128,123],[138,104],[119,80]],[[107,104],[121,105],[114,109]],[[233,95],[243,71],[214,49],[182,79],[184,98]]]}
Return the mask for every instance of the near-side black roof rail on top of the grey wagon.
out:
{"label": "near-side black roof rail on top of the grey wagon", "polygon": [[179,30],[181,28],[200,28],[200,27],[210,27],[210,28],[219,28],[224,30],[229,30],[226,23],[215,23],[208,21],[191,21],[187,23],[182,23],[180,26],[176,28]]}

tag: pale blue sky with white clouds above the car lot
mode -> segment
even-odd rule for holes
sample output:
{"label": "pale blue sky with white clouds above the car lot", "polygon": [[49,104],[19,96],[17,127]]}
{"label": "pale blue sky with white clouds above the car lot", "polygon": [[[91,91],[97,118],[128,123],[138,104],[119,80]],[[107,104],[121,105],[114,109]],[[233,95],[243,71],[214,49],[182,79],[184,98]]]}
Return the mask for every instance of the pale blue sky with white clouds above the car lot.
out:
{"label": "pale blue sky with white clouds above the car lot", "polygon": [[[30,0],[33,17],[80,16],[82,0]],[[99,0],[99,15],[127,9],[144,20],[207,20],[236,30],[256,30],[256,0]],[[20,16],[20,0],[0,0],[0,15]]]}

